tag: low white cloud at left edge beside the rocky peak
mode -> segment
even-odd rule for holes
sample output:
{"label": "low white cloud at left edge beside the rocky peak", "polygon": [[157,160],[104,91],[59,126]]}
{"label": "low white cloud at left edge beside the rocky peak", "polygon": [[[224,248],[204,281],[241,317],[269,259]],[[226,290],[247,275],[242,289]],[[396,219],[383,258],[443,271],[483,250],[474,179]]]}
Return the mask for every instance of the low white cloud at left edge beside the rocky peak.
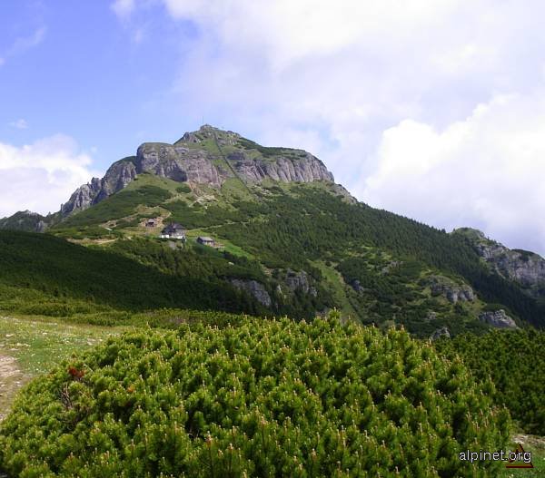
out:
{"label": "low white cloud at left edge beside the rocky peak", "polygon": [[76,188],[91,180],[91,166],[91,157],[68,136],[22,147],[0,142],[0,217],[17,210],[59,210]]}

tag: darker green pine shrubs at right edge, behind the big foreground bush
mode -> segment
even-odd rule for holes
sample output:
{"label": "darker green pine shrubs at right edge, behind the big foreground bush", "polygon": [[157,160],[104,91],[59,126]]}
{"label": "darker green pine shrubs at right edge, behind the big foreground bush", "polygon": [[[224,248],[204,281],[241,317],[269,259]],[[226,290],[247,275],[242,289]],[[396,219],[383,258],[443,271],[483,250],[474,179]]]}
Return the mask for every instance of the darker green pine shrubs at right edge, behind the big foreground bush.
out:
{"label": "darker green pine shrubs at right edge, behind the big foreground bush", "polygon": [[435,346],[445,356],[461,356],[479,380],[491,378],[494,402],[508,406],[522,430],[545,435],[545,332],[463,334]]}

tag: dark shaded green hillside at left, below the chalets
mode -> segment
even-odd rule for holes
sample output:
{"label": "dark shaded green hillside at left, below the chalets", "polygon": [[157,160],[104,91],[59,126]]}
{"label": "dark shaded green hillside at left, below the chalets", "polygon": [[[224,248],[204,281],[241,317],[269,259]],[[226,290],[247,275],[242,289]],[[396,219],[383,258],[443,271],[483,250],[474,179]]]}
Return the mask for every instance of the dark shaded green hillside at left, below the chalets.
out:
{"label": "dark shaded green hillside at left, below the chalets", "polygon": [[0,308],[66,316],[112,307],[190,307],[263,313],[252,297],[214,278],[187,278],[104,249],[47,234],[0,231]]}

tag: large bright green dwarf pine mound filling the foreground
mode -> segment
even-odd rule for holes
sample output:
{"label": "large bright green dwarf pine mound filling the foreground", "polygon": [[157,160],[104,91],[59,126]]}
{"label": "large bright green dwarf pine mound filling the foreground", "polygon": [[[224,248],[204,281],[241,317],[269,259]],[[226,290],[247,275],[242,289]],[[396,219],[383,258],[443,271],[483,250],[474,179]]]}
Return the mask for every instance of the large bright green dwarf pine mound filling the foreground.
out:
{"label": "large bright green dwarf pine mound filling the foreground", "polygon": [[[481,388],[482,387],[482,388]],[[137,331],[37,378],[0,425],[14,476],[497,476],[509,417],[406,332],[245,319]],[[484,394],[482,393],[484,392]]]}

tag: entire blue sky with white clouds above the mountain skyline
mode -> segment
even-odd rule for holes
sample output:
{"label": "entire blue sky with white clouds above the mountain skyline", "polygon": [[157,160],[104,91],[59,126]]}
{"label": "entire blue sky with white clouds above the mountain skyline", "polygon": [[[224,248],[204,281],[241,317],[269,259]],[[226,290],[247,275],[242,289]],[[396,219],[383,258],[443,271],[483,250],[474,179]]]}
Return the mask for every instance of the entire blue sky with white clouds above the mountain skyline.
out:
{"label": "entire blue sky with white clouds above the mountain skyline", "polygon": [[540,0],[0,2],[0,217],[203,123],[545,256]]}

